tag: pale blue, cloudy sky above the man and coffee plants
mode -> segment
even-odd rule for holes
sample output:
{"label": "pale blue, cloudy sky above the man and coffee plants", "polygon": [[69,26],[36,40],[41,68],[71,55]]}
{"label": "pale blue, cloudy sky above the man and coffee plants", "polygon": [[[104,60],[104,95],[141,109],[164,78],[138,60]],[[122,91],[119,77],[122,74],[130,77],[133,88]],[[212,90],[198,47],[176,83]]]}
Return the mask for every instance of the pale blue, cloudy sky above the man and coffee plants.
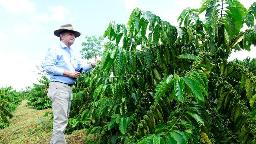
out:
{"label": "pale blue, cloudy sky above the man and coffee plants", "polygon": [[[239,2],[249,8],[254,0]],[[33,71],[44,61],[48,48],[59,43],[53,32],[63,24],[72,24],[81,33],[71,46],[81,57],[86,35],[103,35],[110,21],[127,26],[135,7],[178,26],[183,9],[200,6],[201,0],[0,0],[0,87],[20,90],[38,83],[41,76]],[[247,56],[255,57],[253,48],[232,54],[230,60]]]}

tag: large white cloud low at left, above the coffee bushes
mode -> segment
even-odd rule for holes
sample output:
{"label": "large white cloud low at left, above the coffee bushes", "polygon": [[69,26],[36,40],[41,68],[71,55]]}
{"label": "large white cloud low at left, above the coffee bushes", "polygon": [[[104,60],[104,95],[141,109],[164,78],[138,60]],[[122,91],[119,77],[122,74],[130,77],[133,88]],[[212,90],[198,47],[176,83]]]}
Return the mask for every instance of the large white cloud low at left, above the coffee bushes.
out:
{"label": "large white cloud low at left, above the coffee bushes", "polygon": [[33,72],[37,63],[22,53],[0,53],[2,70],[0,71],[0,87],[12,86],[20,90],[37,82]]}

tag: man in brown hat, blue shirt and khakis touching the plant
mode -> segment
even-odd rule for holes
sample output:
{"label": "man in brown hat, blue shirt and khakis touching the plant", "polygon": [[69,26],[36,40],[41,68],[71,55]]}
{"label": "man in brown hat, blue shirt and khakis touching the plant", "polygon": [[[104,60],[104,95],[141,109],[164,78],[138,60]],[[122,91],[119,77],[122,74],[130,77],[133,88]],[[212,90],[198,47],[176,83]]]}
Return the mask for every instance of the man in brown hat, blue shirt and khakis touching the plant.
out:
{"label": "man in brown hat, blue shirt and khakis touching the plant", "polygon": [[76,59],[70,46],[74,44],[75,38],[79,37],[80,33],[74,31],[71,24],[61,26],[59,30],[54,31],[54,35],[59,37],[60,43],[49,48],[45,57],[45,71],[50,74],[47,96],[52,101],[54,114],[50,144],[66,144],[64,132],[68,124],[72,85],[80,76],[77,70],[87,72],[100,60],[85,65]]}

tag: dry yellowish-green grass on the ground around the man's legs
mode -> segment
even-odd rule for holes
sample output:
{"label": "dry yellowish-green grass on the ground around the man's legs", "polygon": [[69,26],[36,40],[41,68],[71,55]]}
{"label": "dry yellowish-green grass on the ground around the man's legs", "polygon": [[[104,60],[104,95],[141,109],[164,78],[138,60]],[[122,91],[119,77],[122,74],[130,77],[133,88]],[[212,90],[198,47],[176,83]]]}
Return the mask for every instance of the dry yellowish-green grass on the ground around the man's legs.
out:
{"label": "dry yellowish-green grass on the ground around the man's legs", "polygon": [[[23,100],[10,119],[11,125],[0,129],[0,144],[49,144],[52,137],[52,120],[43,115],[52,109],[36,110]],[[48,115],[49,116],[49,115]],[[42,121],[40,123],[40,120]],[[68,144],[85,144],[85,130],[65,135]],[[91,140],[90,140],[91,141]]]}

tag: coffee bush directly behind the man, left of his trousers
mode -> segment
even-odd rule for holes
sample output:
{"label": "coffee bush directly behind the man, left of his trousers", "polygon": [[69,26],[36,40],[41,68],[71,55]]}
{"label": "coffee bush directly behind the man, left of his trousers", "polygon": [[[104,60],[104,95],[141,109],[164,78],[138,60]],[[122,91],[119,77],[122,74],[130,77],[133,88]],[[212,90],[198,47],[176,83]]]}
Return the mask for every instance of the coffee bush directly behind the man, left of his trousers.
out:
{"label": "coffee bush directly behind the man, left of his trousers", "polygon": [[50,81],[46,76],[42,76],[42,79],[38,81],[41,84],[34,83],[33,89],[26,95],[27,105],[33,106],[37,110],[50,108],[52,107],[52,102],[46,95]]}

